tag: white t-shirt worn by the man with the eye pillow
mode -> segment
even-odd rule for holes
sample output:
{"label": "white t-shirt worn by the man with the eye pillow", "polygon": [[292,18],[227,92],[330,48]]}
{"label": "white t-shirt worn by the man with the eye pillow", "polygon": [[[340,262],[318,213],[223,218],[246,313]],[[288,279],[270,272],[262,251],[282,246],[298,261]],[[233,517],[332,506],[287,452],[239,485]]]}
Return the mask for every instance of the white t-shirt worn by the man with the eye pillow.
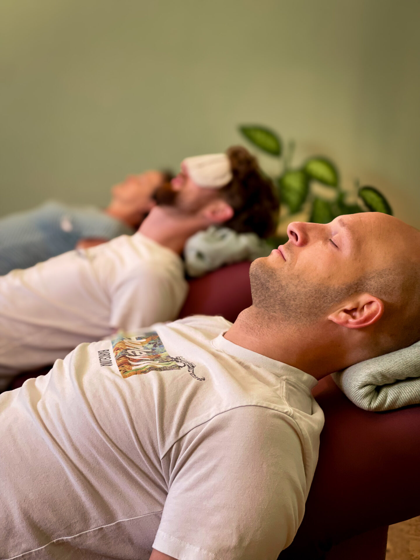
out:
{"label": "white t-shirt worn by the man with the eye pillow", "polygon": [[140,233],[0,277],[0,389],[118,329],[176,319],[188,284],[179,255]]}

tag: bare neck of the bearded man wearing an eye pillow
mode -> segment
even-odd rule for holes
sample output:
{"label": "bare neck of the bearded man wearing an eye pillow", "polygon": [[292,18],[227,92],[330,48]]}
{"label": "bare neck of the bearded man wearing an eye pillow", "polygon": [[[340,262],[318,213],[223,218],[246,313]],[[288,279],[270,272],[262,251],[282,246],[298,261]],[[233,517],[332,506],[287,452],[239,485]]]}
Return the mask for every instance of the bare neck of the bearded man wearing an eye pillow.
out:
{"label": "bare neck of the bearded man wearing an eye pillow", "polygon": [[186,240],[209,225],[203,216],[181,213],[172,207],[155,206],[144,218],[138,231],[180,255]]}

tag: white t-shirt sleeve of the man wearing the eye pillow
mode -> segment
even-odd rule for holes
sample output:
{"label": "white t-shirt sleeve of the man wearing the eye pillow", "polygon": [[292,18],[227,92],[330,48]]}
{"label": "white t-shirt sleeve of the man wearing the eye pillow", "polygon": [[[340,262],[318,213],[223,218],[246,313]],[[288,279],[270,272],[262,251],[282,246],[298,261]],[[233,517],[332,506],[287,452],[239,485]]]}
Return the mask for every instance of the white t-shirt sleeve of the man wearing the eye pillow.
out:
{"label": "white t-shirt sleeve of the man wearing the eye pillow", "polygon": [[113,292],[111,325],[125,331],[177,318],[185,300],[187,284],[178,271],[164,263],[142,263],[136,275]]}

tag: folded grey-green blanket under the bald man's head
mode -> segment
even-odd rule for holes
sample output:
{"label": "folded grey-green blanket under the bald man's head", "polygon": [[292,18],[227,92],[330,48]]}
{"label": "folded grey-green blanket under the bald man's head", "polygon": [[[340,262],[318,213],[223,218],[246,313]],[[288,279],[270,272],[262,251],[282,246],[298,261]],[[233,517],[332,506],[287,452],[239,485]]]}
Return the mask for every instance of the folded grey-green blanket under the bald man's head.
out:
{"label": "folded grey-green blanket under the bald man's head", "polygon": [[380,412],[420,404],[420,342],[356,363],[332,377],[365,410]]}

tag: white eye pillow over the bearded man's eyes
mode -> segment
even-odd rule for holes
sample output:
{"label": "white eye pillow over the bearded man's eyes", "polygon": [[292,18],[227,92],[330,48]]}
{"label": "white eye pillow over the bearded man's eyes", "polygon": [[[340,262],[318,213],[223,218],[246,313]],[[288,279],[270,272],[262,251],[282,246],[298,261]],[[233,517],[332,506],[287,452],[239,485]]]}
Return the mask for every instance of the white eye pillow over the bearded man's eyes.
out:
{"label": "white eye pillow over the bearded man's eyes", "polygon": [[186,157],[183,164],[194,183],[207,189],[220,189],[233,177],[226,153]]}

